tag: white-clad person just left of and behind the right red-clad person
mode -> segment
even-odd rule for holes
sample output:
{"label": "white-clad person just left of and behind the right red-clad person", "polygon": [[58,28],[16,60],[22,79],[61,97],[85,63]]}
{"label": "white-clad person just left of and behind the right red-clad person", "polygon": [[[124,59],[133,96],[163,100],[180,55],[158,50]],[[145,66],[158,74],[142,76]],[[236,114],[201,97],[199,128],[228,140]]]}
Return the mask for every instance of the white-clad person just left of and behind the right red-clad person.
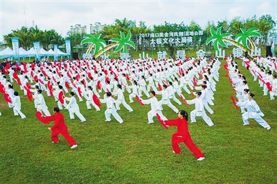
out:
{"label": "white-clad person just left of and behind the right red-clad person", "polygon": [[161,104],[156,98],[155,91],[150,92],[150,99],[148,100],[141,100],[143,104],[151,104],[151,110],[148,112],[148,124],[154,123],[153,117],[157,116],[157,113],[159,116],[161,116],[161,120],[168,120],[166,116],[163,116],[163,113],[161,112]]}

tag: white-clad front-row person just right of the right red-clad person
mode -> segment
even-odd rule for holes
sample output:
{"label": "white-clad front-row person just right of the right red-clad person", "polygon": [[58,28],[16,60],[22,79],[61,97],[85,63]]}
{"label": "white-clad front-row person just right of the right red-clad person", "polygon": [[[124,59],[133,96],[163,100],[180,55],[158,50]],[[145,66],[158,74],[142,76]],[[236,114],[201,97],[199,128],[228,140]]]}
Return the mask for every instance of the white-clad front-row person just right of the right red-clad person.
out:
{"label": "white-clad front-row person just right of the right red-clad person", "polygon": [[202,95],[202,92],[198,91],[198,92],[196,92],[195,99],[186,101],[188,104],[195,104],[195,110],[190,112],[190,121],[196,122],[196,119],[195,119],[196,116],[201,116],[202,119],[204,120],[204,122],[206,122],[206,124],[209,127],[211,127],[211,126],[213,126],[213,122],[212,122],[211,118],[209,118],[206,115],[202,98],[200,98],[201,95]]}

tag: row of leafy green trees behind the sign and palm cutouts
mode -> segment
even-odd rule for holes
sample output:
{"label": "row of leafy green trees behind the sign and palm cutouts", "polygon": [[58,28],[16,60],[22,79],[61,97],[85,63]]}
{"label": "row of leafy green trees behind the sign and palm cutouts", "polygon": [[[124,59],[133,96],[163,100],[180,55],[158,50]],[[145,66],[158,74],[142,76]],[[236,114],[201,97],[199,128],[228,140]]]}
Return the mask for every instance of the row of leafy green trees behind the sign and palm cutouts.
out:
{"label": "row of leafy green trees behind the sign and palm cutouts", "polygon": [[[189,25],[184,24],[170,24],[165,22],[162,25],[153,25],[152,27],[145,26],[145,21],[140,21],[138,26],[130,27],[132,21],[127,20],[126,18],[123,20],[115,19],[114,24],[105,26],[102,31],[100,31],[102,39],[104,39],[107,43],[110,39],[115,37],[120,37],[120,31],[127,35],[130,30],[132,33],[132,42],[136,44],[136,49],[139,50],[152,50],[159,49],[162,47],[163,50],[167,50],[168,54],[174,55],[177,49],[189,49],[190,47],[199,48],[203,47],[205,50],[208,50],[211,47],[211,43],[206,46],[206,39],[211,37],[211,27],[215,27],[215,29],[222,27],[222,33],[230,33],[231,37],[234,39],[235,35],[241,33],[240,28],[244,28],[248,30],[249,28],[256,27],[261,35],[259,39],[259,47],[265,46],[268,42],[268,37],[271,37],[271,31],[276,26],[276,22],[272,19],[271,15],[262,15],[261,17],[253,16],[248,19],[241,19],[240,17],[235,17],[231,21],[223,20],[223,21],[208,21],[206,28],[202,28],[197,24],[196,21],[191,21]],[[189,44],[159,44],[159,45],[150,45],[150,38],[143,38],[141,40],[141,44],[139,44],[139,34],[140,33],[175,33],[182,31],[199,31],[203,30],[203,35],[201,39],[199,37],[193,37],[193,43]],[[26,28],[22,27],[21,30],[12,30],[12,33],[8,35],[4,35],[4,40],[7,46],[12,46],[11,37],[19,38],[19,46],[29,49],[33,46],[33,42],[39,41],[42,47],[48,49],[52,48],[53,44],[63,45],[65,39],[71,40],[71,50],[75,52],[78,48],[82,48],[82,53],[85,52],[87,46],[81,46],[80,43],[83,39],[84,35],[79,34],[69,34],[66,38],[63,38],[60,34],[58,34],[55,30],[39,30],[37,26],[35,28]]]}

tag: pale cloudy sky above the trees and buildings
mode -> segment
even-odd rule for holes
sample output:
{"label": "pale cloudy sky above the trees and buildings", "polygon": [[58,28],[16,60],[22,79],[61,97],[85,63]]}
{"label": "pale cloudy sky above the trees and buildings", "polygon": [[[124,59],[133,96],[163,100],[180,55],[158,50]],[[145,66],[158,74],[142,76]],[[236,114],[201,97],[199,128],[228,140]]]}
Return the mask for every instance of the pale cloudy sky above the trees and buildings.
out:
{"label": "pale cloudy sky above the trees and buildings", "polygon": [[145,21],[146,26],[170,24],[189,25],[196,21],[206,28],[208,21],[231,21],[234,17],[247,19],[256,15],[271,15],[277,21],[277,1],[13,1],[0,0],[1,21],[0,41],[3,35],[22,26],[30,28],[35,25],[41,30],[55,29],[62,37],[71,26],[100,22],[114,24],[115,19]]}

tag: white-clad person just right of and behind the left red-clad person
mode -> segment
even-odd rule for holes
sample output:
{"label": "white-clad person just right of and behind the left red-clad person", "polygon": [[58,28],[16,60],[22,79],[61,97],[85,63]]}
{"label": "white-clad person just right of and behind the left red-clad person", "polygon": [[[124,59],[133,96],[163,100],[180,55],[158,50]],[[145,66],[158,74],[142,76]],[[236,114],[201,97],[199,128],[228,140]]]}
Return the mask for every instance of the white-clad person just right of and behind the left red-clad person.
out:
{"label": "white-clad person just right of and behind the left red-clad person", "polygon": [[70,119],[71,120],[74,119],[74,113],[75,113],[76,116],[78,116],[78,118],[81,120],[81,122],[85,122],[87,120],[80,113],[79,105],[77,104],[76,98],[74,97],[74,95],[75,95],[75,93],[73,91],[71,91],[69,93],[69,98],[68,97],[64,98],[64,100],[69,101],[69,104],[67,104],[66,109],[69,109]]}

